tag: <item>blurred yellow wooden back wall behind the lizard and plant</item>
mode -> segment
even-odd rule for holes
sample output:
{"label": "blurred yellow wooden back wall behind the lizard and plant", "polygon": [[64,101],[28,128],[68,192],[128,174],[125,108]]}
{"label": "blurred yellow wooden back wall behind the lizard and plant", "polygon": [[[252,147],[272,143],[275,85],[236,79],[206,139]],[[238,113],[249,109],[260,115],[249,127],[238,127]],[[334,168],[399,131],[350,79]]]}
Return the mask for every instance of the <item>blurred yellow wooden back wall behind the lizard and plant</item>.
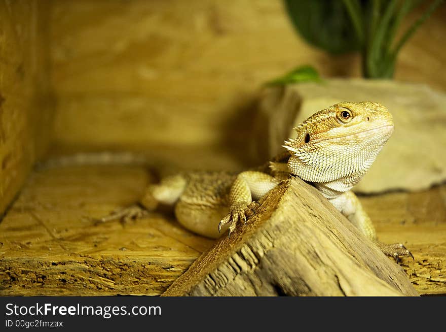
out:
{"label": "blurred yellow wooden back wall behind the lizard and plant", "polygon": [[[446,90],[445,14],[403,49],[396,79]],[[296,35],[280,0],[55,0],[50,25],[63,147],[211,147],[228,133],[240,146],[250,123],[240,113],[266,80],[307,63],[359,75],[357,56],[330,57]]]}

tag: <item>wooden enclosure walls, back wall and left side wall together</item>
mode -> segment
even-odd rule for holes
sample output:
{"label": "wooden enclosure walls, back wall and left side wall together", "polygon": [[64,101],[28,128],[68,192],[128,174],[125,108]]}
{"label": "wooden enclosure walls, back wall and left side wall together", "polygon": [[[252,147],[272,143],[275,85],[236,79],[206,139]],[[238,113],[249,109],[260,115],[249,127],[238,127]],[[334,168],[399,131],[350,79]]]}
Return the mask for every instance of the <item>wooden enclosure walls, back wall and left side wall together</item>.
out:
{"label": "wooden enclosure walls, back wall and left side wall together", "polygon": [[[405,46],[396,79],[446,90],[445,16],[443,5]],[[61,153],[243,156],[262,83],[308,63],[359,76],[357,55],[308,45],[280,0],[0,0],[0,196],[10,201],[50,135]]]}

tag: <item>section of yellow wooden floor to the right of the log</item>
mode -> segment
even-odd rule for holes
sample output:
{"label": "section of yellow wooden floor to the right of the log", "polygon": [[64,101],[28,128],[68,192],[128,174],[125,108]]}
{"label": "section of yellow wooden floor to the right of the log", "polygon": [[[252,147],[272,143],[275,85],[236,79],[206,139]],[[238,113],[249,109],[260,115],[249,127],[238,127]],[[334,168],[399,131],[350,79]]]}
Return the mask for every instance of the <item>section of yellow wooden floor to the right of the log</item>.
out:
{"label": "section of yellow wooden floor to the right of the log", "polygon": [[446,185],[359,198],[378,238],[401,242],[414,254],[402,268],[420,294],[446,294]]}

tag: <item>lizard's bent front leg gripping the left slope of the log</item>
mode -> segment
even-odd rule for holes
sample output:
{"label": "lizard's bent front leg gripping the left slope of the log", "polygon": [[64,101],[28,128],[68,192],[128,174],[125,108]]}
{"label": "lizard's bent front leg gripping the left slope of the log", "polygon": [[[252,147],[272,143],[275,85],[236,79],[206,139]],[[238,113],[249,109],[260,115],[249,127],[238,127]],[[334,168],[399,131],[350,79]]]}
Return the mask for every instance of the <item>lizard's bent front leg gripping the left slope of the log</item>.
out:
{"label": "lizard's bent front leg gripping the left slope of the log", "polygon": [[218,231],[221,227],[230,224],[229,235],[234,231],[240,219],[246,222],[245,211],[251,206],[253,200],[263,197],[268,191],[279,183],[275,177],[263,172],[246,171],[237,175],[229,193],[229,213],[221,219]]}

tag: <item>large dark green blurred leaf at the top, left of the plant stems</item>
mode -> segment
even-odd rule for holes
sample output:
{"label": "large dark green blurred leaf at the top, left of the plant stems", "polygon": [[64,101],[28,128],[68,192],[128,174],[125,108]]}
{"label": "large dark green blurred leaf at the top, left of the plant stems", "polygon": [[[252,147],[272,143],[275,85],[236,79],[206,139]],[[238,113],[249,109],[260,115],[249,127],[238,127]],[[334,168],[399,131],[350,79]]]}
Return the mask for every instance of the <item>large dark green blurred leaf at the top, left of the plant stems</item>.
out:
{"label": "large dark green blurred leaf at the top, left of the plant stems", "polygon": [[361,48],[357,30],[339,0],[284,0],[286,11],[299,34],[310,44],[331,54]]}

